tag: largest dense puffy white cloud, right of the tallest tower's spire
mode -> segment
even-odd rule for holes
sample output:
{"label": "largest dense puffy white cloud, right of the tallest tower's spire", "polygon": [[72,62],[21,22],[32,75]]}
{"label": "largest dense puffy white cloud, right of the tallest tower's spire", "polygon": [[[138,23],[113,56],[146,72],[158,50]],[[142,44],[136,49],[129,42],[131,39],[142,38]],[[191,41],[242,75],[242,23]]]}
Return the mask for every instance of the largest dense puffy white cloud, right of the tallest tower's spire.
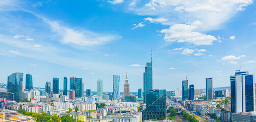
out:
{"label": "largest dense puffy white cloud, right of the tallest tower's spire", "polygon": [[194,45],[212,45],[217,39],[214,36],[202,34],[195,30],[202,25],[199,20],[193,21],[191,24],[175,24],[168,29],[162,29],[160,33],[165,34],[164,40],[167,42],[177,41],[188,42]]}

